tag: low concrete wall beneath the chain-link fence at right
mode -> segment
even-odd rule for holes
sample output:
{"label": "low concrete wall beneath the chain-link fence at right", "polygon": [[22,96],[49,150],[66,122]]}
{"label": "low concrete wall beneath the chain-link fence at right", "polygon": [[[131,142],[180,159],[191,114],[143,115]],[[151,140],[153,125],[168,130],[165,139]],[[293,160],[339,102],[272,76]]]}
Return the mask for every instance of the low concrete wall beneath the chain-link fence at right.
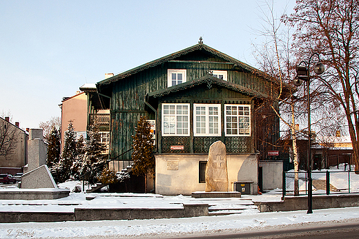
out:
{"label": "low concrete wall beneath the chain-link fence at right", "polygon": [[[359,207],[359,194],[313,195],[313,209]],[[280,202],[254,202],[261,212],[308,209],[307,196],[288,196]]]}

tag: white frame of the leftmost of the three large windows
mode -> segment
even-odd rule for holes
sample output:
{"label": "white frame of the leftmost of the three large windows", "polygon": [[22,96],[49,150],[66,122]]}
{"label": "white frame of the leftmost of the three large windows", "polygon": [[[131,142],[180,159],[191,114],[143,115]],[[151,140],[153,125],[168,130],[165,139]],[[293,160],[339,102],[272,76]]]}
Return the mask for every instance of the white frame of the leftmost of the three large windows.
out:
{"label": "white frame of the leftmost of the three large windows", "polygon": [[[171,112],[171,110],[168,110],[168,114],[165,114],[167,113],[166,112],[166,107],[165,106],[174,106],[174,112]],[[187,110],[186,110],[186,114],[178,114],[179,111],[181,111],[179,109],[178,106],[186,106],[187,107]],[[190,104],[189,103],[162,103],[162,136],[190,136],[190,121],[189,121],[189,117],[190,117]],[[178,134],[177,133],[177,130],[180,129],[177,125],[178,122],[178,116],[186,116],[187,118],[187,121],[183,121],[182,123],[186,123],[187,124],[187,133],[186,134]],[[173,121],[173,127],[175,129],[174,133],[171,133],[171,132],[165,132],[166,128],[168,127],[165,127],[165,123],[167,121],[170,121],[171,122],[171,119],[166,119],[166,117],[172,117],[172,121]],[[170,127],[171,127],[171,123],[169,124]]]}

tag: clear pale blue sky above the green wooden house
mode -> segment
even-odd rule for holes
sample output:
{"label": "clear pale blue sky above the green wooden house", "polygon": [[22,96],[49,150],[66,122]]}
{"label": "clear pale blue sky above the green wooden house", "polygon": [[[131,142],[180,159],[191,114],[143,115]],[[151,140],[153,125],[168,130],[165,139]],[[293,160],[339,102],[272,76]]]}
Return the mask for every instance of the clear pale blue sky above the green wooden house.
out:
{"label": "clear pale blue sky above the green wooden house", "polygon": [[[288,0],[275,1],[282,13]],[[63,96],[195,45],[255,65],[263,1],[0,0],[0,113],[20,127],[61,116]],[[288,12],[293,11],[289,1]]]}

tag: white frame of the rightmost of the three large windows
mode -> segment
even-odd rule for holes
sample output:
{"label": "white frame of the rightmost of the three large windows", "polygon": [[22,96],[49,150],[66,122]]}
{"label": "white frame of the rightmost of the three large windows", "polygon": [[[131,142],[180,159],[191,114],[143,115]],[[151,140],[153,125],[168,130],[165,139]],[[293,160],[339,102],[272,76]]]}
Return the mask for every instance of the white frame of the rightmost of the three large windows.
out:
{"label": "white frame of the rightmost of the three large windows", "polygon": [[[227,107],[237,107],[235,114],[232,114],[232,110],[231,110],[231,114],[228,114],[229,112],[227,112]],[[240,110],[240,107],[243,107],[243,110]],[[246,110],[248,107],[248,110]],[[231,117],[231,118],[235,118],[236,122],[234,122],[233,124],[237,124],[237,134],[228,134],[227,132],[227,128],[228,129],[234,129],[231,127],[227,127],[227,123],[232,123],[231,122],[227,122],[228,118],[227,117]],[[241,127],[241,124],[243,125],[243,127]],[[246,125],[248,125],[248,127],[246,127]],[[251,136],[251,105],[234,105],[234,104],[226,104],[224,105],[224,132],[225,132],[225,136]],[[243,129],[243,132],[241,133],[241,129]]]}

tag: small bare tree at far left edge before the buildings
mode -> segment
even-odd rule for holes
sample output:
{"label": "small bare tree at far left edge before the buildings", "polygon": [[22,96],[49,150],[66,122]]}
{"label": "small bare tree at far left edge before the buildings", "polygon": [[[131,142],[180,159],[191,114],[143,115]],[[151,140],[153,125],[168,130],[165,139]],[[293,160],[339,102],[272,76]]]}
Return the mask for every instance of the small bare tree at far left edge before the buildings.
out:
{"label": "small bare tree at far left edge before the buildings", "polygon": [[0,120],[0,156],[5,158],[17,147],[18,134],[16,127],[1,118]]}

